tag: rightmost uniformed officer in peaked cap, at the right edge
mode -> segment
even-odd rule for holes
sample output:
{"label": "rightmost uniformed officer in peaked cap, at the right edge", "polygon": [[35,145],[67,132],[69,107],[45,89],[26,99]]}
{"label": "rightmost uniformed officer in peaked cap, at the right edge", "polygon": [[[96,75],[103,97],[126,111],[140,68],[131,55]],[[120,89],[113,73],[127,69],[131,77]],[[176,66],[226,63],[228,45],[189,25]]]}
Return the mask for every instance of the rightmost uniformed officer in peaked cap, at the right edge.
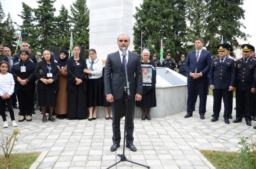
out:
{"label": "rightmost uniformed officer in peaked cap, at the right edge", "polygon": [[241,45],[241,48],[242,58],[235,62],[236,120],[233,122],[242,122],[242,115],[244,114],[246,124],[251,126],[253,93],[256,91],[256,81],[253,77],[253,73],[255,72],[256,59],[251,57],[251,52],[255,50],[255,48],[249,44]]}

